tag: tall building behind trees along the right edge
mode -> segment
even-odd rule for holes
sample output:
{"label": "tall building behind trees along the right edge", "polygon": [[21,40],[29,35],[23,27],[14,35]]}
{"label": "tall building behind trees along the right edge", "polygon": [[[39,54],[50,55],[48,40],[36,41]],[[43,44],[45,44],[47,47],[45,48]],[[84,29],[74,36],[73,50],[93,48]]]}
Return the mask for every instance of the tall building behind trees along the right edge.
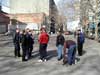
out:
{"label": "tall building behind trees along the right edge", "polygon": [[89,38],[98,40],[100,0],[81,0],[81,23]]}

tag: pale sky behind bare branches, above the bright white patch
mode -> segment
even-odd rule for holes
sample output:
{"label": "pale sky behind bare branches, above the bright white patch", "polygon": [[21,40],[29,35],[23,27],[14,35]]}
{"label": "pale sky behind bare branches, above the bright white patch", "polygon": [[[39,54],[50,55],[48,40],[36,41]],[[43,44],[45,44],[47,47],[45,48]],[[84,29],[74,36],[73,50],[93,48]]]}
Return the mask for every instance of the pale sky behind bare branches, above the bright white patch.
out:
{"label": "pale sky behind bare branches, above the bright white patch", "polygon": [[[68,20],[70,21],[71,17],[74,16],[75,10],[73,7],[73,3],[75,0],[55,0],[56,5],[58,7],[58,11],[61,15],[67,16]],[[67,6],[69,7],[67,8]]]}

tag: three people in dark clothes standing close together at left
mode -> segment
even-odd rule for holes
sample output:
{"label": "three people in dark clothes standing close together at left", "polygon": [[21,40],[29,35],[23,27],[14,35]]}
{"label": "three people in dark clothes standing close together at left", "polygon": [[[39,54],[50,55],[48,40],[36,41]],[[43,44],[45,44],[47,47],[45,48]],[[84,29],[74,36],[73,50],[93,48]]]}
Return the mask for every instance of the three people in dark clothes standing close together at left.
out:
{"label": "three people in dark clothes standing close together at left", "polygon": [[22,61],[27,61],[32,56],[34,37],[32,35],[32,31],[29,29],[20,31],[16,29],[14,38],[13,38],[15,50],[15,57],[21,57],[21,49],[22,49]]}

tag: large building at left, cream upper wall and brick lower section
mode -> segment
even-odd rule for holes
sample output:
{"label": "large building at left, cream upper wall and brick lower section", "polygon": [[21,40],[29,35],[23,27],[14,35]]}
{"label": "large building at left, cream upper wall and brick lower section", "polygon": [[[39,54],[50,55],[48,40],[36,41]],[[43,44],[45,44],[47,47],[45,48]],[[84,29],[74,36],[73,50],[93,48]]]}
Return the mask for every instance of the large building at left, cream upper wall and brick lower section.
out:
{"label": "large building at left, cream upper wall and brick lower section", "polygon": [[[10,24],[15,27],[25,28],[37,24],[39,29],[43,24],[48,24],[48,17],[49,0],[10,0]],[[15,20],[17,22],[14,24]]]}

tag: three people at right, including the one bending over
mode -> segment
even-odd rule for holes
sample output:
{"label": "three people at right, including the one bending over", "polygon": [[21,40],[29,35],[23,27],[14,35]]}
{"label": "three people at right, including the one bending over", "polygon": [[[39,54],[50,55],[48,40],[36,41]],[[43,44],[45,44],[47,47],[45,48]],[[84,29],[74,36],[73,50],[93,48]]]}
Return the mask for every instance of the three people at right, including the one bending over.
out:
{"label": "three people at right, including the one bending over", "polygon": [[78,30],[76,35],[77,42],[73,40],[65,40],[62,33],[58,33],[56,39],[58,61],[60,61],[63,57],[63,64],[75,64],[76,49],[78,49],[79,56],[82,56],[83,54],[83,44],[85,41],[84,33],[82,33],[81,30]]}

